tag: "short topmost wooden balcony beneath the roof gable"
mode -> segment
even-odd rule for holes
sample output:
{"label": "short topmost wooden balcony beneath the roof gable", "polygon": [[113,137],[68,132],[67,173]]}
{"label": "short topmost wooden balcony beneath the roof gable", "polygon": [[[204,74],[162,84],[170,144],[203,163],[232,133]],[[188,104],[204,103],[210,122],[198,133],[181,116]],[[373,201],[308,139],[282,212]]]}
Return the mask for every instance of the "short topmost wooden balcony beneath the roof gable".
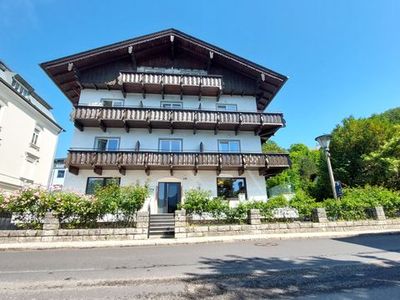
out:
{"label": "short topmost wooden balcony beneath the roof gable", "polygon": [[118,84],[123,93],[216,96],[222,93],[222,76],[121,71]]}

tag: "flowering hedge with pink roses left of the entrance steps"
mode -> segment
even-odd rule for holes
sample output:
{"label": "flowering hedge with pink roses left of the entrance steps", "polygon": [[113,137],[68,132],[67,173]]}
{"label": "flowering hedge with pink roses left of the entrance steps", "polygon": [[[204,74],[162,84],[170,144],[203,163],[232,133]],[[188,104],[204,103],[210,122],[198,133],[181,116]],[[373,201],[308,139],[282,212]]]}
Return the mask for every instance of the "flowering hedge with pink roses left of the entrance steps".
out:
{"label": "flowering hedge with pink roses left of the entrance steps", "polygon": [[97,188],[93,196],[27,188],[1,195],[0,212],[12,212],[20,226],[27,228],[40,228],[48,211],[67,227],[96,227],[98,220],[108,214],[118,225],[133,226],[135,213],[148,196],[148,187],[140,185]]}

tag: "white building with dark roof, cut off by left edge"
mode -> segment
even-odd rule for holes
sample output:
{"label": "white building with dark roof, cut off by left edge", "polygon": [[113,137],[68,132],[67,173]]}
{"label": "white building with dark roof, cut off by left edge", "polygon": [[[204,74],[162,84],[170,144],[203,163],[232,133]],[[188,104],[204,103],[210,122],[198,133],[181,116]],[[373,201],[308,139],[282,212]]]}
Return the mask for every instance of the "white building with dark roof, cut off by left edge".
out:
{"label": "white building with dark roof, cut off by left edge", "polygon": [[0,189],[47,188],[62,128],[21,75],[0,61]]}

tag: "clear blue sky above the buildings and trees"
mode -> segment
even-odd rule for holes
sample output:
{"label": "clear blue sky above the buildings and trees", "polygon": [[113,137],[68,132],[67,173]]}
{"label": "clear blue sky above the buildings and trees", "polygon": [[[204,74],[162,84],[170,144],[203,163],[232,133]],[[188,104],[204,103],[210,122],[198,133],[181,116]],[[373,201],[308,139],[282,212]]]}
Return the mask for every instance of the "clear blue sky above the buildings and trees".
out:
{"label": "clear blue sky above the buildings and trees", "polygon": [[0,0],[0,59],[53,106],[72,106],[39,63],[176,28],[289,77],[267,108],[287,126],[273,140],[316,146],[344,118],[400,106],[400,1]]}

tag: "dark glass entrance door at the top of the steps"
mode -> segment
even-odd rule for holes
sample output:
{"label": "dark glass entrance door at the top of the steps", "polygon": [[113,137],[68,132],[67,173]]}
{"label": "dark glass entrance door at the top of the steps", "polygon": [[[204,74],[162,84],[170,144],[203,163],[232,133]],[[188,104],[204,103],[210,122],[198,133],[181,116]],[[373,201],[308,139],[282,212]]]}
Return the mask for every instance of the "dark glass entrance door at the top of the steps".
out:
{"label": "dark glass entrance door at the top of the steps", "polygon": [[158,213],[173,213],[181,202],[179,182],[160,182],[158,184]]}

